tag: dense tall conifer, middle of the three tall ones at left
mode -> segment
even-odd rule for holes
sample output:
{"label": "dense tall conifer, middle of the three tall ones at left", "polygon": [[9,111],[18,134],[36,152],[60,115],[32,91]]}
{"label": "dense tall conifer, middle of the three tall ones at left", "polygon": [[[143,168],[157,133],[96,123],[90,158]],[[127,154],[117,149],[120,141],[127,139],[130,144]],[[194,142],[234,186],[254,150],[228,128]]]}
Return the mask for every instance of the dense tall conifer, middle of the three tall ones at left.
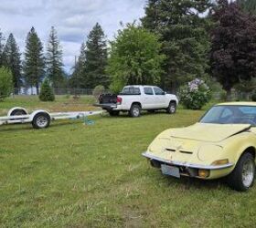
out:
{"label": "dense tall conifer, middle of the three tall ones at left", "polygon": [[23,71],[27,84],[31,87],[36,87],[37,94],[39,92],[39,83],[42,81],[42,78],[44,78],[44,67],[45,58],[43,54],[43,46],[37,36],[35,28],[32,27],[27,35]]}

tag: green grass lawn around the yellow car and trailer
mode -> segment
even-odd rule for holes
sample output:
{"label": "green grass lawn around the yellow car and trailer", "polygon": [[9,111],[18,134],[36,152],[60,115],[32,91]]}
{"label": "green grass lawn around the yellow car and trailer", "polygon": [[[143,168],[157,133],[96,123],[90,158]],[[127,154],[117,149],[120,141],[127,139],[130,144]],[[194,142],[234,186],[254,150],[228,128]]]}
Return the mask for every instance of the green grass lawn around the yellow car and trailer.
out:
{"label": "green grass lawn around the yellow car and trailer", "polygon": [[[92,109],[93,98],[9,98],[13,106]],[[0,227],[255,227],[256,187],[176,180],[141,156],[161,131],[192,124],[203,111],[178,109],[139,119],[108,115],[53,122],[47,130],[0,127]]]}

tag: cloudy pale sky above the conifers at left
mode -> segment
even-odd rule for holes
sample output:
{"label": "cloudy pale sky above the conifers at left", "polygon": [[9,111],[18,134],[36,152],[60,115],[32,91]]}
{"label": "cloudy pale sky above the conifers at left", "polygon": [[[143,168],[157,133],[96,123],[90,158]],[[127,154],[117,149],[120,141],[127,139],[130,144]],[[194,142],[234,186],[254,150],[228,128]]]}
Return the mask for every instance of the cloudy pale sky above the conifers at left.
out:
{"label": "cloudy pale sky above the conifers at left", "polygon": [[133,22],[144,15],[146,0],[1,0],[0,28],[5,38],[13,33],[23,52],[27,32],[35,26],[46,46],[51,26],[58,30],[68,70],[79,55],[80,44],[99,22],[112,39],[120,22]]}

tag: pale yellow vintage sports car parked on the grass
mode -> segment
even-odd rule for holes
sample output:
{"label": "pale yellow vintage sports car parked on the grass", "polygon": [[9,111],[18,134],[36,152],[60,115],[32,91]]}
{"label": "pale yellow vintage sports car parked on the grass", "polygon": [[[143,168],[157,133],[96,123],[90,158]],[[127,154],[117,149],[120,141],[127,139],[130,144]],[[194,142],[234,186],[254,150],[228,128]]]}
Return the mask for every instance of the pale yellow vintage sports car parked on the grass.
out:
{"label": "pale yellow vintage sports car parked on the grass", "polygon": [[143,153],[165,175],[217,179],[232,189],[253,185],[256,154],[256,102],[218,104],[196,124],[165,130]]}

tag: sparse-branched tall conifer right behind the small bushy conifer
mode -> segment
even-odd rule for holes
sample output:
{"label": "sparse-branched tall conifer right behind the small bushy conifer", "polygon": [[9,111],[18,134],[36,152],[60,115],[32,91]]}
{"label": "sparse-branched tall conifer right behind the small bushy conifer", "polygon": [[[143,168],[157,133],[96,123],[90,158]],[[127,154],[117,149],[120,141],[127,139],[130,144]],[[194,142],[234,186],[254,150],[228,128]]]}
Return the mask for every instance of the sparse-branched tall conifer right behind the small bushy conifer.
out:
{"label": "sparse-branched tall conifer right behind the small bushy conifer", "polygon": [[62,49],[59,45],[59,38],[56,29],[52,26],[48,38],[47,47],[47,75],[52,82],[53,88],[63,86],[63,63],[62,63]]}

